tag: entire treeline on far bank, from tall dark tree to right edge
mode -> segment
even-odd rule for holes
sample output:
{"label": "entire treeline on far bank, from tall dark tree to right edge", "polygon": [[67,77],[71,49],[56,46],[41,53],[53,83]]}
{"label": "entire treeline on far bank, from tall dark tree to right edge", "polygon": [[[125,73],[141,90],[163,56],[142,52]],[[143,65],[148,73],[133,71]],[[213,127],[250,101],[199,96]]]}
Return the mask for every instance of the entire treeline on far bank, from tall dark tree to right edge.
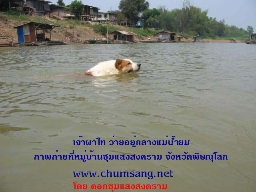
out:
{"label": "entire treeline on far bank, from tall dark tree to right edge", "polygon": [[159,28],[178,32],[184,36],[246,38],[248,34],[253,33],[251,26],[244,30],[233,25],[228,26],[224,19],[217,21],[216,18],[208,17],[208,10],[202,11],[201,8],[192,6],[190,0],[184,0],[181,9],[176,8],[171,11],[167,10],[165,6],[153,9],[148,7],[149,3],[145,0],[121,0],[120,10],[114,12],[118,13],[119,24],[127,18],[130,26],[136,26],[137,21],[140,20],[144,29]]}

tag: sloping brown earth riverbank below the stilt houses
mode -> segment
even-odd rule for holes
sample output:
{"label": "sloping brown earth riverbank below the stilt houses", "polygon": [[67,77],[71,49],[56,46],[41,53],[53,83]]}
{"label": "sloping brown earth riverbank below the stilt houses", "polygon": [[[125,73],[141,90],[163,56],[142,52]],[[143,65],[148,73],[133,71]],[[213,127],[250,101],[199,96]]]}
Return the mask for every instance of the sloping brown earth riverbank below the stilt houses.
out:
{"label": "sloping brown earth riverbank below the stilt houses", "polygon": [[[12,44],[18,42],[17,30],[14,29],[14,26],[24,24],[26,22],[43,22],[43,23],[52,23],[60,27],[56,27],[52,30],[51,36],[50,32],[46,31],[46,38],[50,38],[54,41],[62,41],[66,44],[72,44],[77,42],[84,42],[90,39],[104,39],[108,38],[112,40],[112,34],[100,34],[94,31],[94,26],[96,25],[93,22],[88,22],[84,24],[83,22],[73,22],[70,20],[58,20],[48,17],[35,17],[35,16],[9,16],[6,14],[0,14],[0,44]],[[112,25],[112,28],[117,30],[129,31],[132,28],[127,28],[124,26]],[[150,34],[150,33],[148,33]],[[134,32],[134,42],[140,42],[141,40],[147,40],[150,38],[154,40],[154,31],[152,30],[151,35],[142,35],[140,32]],[[192,38],[182,38],[182,42],[193,42]],[[204,39],[204,42],[232,42],[232,40],[214,40],[214,39]],[[236,40],[236,42],[245,42],[244,40]]]}

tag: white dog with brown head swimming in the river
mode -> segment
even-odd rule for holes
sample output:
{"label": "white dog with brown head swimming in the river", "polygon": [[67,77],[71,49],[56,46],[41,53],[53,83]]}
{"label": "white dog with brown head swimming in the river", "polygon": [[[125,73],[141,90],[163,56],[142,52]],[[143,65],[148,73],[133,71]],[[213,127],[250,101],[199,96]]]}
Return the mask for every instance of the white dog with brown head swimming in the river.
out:
{"label": "white dog with brown head swimming in the river", "polygon": [[87,70],[84,75],[117,75],[123,73],[136,72],[138,70],[140,70],[140,64],[134,63],[130,59],[117,59],[100,62],[96,66]]}

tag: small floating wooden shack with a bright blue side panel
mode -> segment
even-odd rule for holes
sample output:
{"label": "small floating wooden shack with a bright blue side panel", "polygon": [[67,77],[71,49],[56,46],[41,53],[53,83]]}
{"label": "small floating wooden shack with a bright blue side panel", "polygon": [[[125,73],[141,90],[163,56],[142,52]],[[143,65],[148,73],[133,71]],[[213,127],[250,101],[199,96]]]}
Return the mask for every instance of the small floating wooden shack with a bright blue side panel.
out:
{"label": "small floating wooden shack with a bright blue side panel", "polygon": [[[59,27],[53,24],[45,24],[38,22],[28,22],[14,28],[17,29],[19,44],[25,44],[30,42],[44,42],[51,41],[51,30],[55,27]],[[45,30],[49,30],[50,38],[45,37]]]}

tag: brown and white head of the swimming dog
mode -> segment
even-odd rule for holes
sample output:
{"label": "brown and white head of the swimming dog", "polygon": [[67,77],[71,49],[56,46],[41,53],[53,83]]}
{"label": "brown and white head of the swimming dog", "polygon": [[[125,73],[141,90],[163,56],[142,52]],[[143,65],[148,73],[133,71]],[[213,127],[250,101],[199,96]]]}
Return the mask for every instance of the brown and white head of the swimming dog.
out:
{"label": "brown and white head of the swimming dog", "polygon": [[130,73],[140,70],[140,64],[134,63],[130,59],[117,59],[115,67],[120,73]]}

